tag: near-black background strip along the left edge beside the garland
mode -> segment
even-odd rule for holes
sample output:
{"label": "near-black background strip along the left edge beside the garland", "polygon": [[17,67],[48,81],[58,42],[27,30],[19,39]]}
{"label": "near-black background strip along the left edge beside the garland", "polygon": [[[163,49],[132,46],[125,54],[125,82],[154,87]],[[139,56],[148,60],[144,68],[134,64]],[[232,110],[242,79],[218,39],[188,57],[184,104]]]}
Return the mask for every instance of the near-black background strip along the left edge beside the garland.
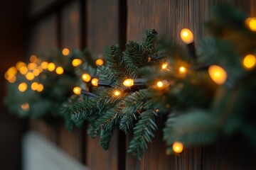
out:
{"label": "near-black background strip along the left edge beside the garland", "polygon": [[0,169],[21,169],[21,135],[23,120],[11,115],[3,104],[4,73],[26,52],[26,1],[0,0]]}

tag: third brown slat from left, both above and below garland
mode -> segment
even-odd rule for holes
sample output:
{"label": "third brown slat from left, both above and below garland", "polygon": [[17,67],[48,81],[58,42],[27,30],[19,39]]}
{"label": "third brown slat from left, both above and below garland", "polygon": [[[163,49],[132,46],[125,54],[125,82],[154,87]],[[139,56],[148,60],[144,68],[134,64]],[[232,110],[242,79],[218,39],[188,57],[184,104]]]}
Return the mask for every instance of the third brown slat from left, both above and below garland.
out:
{"label": "third brown slat from left, both above and below garland", "polygon": [[[86,11],[86,45],[96,60],[96,57],[104,52],[105,45],[119,43],[119,1],[87,0]],[[118,160],[125,156],[118,155],[118,142],[119,132],[117,130],[114,131],[108,151],[100,147],[99,137],[96,139],[87,137],[85,161],[87,166],[92,170],[118,169]]]}

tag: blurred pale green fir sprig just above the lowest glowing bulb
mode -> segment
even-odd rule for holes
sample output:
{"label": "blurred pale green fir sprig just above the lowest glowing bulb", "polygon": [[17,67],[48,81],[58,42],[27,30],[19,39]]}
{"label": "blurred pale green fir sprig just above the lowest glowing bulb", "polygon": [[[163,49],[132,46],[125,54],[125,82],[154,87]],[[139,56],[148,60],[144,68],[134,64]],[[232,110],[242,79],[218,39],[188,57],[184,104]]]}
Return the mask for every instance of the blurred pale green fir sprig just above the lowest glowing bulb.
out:
{"label": "blurred pale green fir sprig just above the lowest glowing bulb", "polygon": [[213,142],[218,136],[218,120],[207,111],[194,110],[182,115],[169,115],[164,128],[164,140],[171,145],[183,142],[186,146]]}

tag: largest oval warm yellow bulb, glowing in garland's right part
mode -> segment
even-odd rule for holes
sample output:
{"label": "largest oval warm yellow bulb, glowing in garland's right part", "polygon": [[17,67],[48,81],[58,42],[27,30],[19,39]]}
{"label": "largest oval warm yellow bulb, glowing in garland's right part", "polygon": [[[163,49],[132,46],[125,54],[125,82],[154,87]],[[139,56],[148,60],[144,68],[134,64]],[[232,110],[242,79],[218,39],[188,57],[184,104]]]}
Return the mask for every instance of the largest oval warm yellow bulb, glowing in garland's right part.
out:
{"label": "largest oval warm yellow bulb, glowing in garland's right part", "polygon": [[210,75],[210,79],[212,79],[216,84],[224,84],[225,80],[228,77],[227,72],[218,66],[218,65],[211,65],[208,68],[208,74]]}

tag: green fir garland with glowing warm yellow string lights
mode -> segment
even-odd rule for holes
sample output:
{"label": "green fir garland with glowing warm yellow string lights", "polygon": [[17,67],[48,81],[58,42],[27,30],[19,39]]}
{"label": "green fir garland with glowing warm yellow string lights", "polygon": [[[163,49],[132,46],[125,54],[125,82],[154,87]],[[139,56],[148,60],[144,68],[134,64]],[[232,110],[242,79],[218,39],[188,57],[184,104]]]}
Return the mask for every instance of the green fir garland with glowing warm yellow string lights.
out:
{"label": "green fir garland with glowing warm yellow string lights", "polygon": [[[12,82],[6,103],[22,116],[59,115],[68,130],[87,121],[88,134],[100,136],[103,149],[109,148],[116,128],[133,131],[128,152],[138,158],[166,115],[168,154],[235,134],[256,145],[256,18],[230,6],[216,6],[211,16],[209,35],[196,50],[193,34],[183,29],[186,49],[146,30],[142,42],[129,41],[124,51],[118,45],[105,47],[105,61],[96,64],[88,52],[57,52],[49,60],[56,59],[64,74],[43,71],[36,78],[42,93],[32,86],[17,90],[21,82],[33,84],[20,75],[17,64],[17,75],[15,67],[6,72]],[[75,94],[68,98],[71,89]]]}

